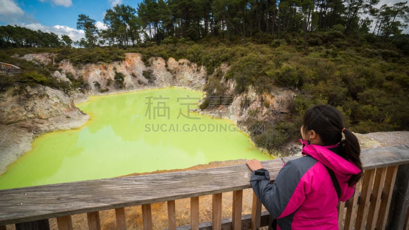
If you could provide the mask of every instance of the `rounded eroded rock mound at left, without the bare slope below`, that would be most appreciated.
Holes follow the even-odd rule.
[[[75,107],[73,99],[48,86],[16,86],[0,94],[0,121],[4,125],[44,132],[78,127],[73,121],[82,120],[88,116]]]

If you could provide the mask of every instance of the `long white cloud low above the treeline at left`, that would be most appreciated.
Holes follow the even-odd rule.
[[[68,35],[73,41],[78,41],[84,37],[85,32],[83,30],[77,30],[67,26],[56,25],[54,27],[43,26],[39,23],[22,24],[22,27],[26,27],[32,30],[41,30],[47,33],[55,33],[60,38],[62,34]]]

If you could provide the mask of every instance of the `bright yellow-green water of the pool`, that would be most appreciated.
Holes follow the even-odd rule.
[[[188,168],[217,160],[270,159],[230,121],[202,116],[198,91],[164,88],[78,105],[91,117],[75,130],[44,134],[0,176],[0,189]]]

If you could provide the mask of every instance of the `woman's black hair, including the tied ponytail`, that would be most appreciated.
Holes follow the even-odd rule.
[[[361,171],[352,175],[348,185],[353,187],[362,177],[362,163],[359,158],[360,147],[356,136],[344,129],[344,119],[338,109],[329,105],[317,105],[305,112],[303,120],[303,132],[314,130],[320,136],[323,145],[334,145],[339,143],[347,159],[351,160]],[[345,140],[342,141],[344,132]]]

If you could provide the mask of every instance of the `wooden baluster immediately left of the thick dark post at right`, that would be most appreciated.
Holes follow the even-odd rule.
[[[385,186],[383,187],[382,200],[379,207],[379,217],[376,222],[376,229],[385,229],[387,224],[389,206],[391,204],[392,192],[395,185],[396,173],[398,172],[398,166],[390,166],[387,169],[387,176],[385,179]]]

